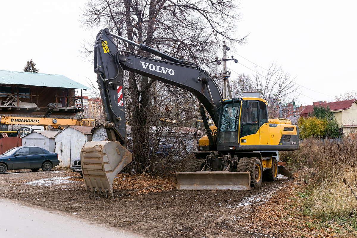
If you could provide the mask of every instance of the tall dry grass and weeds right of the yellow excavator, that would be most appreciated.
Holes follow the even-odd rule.
[[[348,223],[357,236],[357,179],[353,167],[357,161],[357,142],[317,140],[310,138],[300,143],[300,150],[279,154],[290,169],[307,168],[305,200],[307,216],[340,225]]]

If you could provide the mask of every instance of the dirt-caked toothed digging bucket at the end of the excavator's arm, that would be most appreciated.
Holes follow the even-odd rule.
[[[112,193],[115,176],[131,159],[131,153],[117,141],[85,143],[81,150],[81,167],[86,188],[105,195]]]

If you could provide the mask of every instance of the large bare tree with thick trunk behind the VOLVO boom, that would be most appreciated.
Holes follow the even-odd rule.
[[[236,21],[239,20],[235,2],[97,0],[88,2],[81,21],[83,26],[105,26],[129,40],[213,70],[220,40],[238,43],[245,41],[245,37],[232,37]],[[119,49],[135,51],[132,45],[119,41],[117,44]],[[85,51],[87,55],[92,53],[92,50]],[[137,54],[151,57],[148,52]],[[150,117],[157,104],[153,101],[154,80],[131,72],[126,76],[125,81],[128,83],[125,86],[125,100],[132,133],[134,164],[136,169],[144,171],[151,164],[146,152],[150,149],[151,141]]]

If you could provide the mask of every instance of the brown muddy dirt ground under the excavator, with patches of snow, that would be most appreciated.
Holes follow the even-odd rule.
[[[288,227],[258,226],[256,219],[262,216],[262,206],[272,202],[272,196],[291,190],[294,182],[296,179],[280,178],[251,191],[171,189],[130,194],[132,191],[115,190],[112,199],[87,192],[78,173],[54,168],[49,172],[0,174],[0,196],[75,213],[146,237],[288,237]],[[281,199],[287,199],[284,196]]]

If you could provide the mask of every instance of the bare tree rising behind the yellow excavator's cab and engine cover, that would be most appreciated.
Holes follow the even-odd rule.
[[[276,114],[276,104],[281,102],[293,102],[300,95],[301,86],[291,79],[291,75],[285,72],[281,66],[273,62],[268,70],[260,71],[255,68],[255,75],[252,79],[252,86],[257,88],[262,98],[268,103],[268,115]]]

